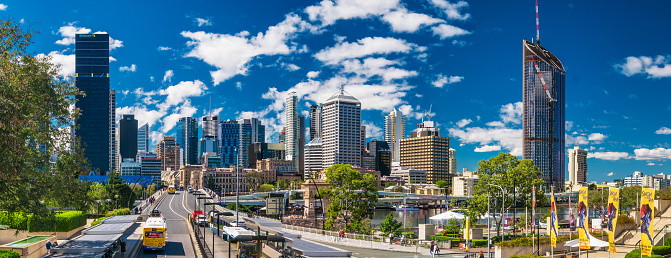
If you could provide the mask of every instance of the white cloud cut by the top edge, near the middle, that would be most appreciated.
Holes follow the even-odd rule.
[[[399,7],[399,0],[324,0],[319,5],[305,8],[310,21],[328,26],[337,20],[365,19],[388,13]]]

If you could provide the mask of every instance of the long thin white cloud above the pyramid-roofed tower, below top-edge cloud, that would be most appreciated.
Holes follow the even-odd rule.
[[[315,58],[326,64],[337,64],[345,59],[360,58],[376,54],[409,53],[417,45],[403,39],[366,37],[357,42],[338,43],[315,54]]]

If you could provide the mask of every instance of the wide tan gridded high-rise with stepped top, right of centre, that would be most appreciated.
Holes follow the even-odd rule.
[[[401,140],[401,166],[426,171],[426,180],[435,184],[440,180],[452,185],[450,174],[450,138],[441,137],[433,121],[424,121]]]

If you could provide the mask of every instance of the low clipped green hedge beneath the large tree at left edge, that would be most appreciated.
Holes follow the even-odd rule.
[[[81,211],[58,211],[55,218],[37,217],[25,213],[0,212],[0,224],[12,229],[29,232],[67,232],[86,225],[86,215]]]

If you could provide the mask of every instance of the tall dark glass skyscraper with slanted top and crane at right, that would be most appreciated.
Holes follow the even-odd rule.
[[[523,158],[531,159],[549,186],[564,189],[565,77],[561,61],[539,44],[524,40]]]

